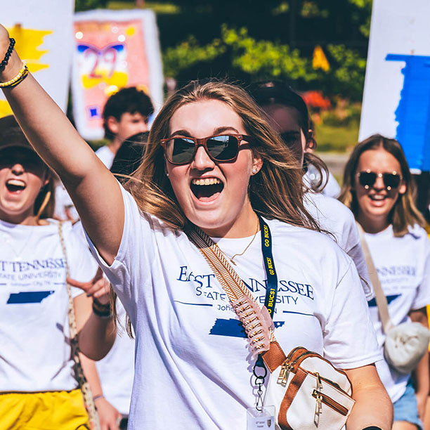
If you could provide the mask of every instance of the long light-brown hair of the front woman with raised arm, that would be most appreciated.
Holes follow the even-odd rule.
[[[320,230],[304,208],[301,166],[292,153],[245,90],[215,80],[190,82],[167,100],[155,118],[143,162],[133,174],[133,180],[126,183],[141,211],[157,216],[173,229],[185,227],[187,219],[165,173],[160,140],[169,136],[170,118],[179,107],[201,100],[226,103],[241,117],[247,134],[254,138],[252,150],[263,160],[263,167],[249,180],[249,200],[253,209],[268,219]]]

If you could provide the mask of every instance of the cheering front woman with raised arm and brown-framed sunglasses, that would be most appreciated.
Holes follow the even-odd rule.
[[[0,52],[7,46],[0,27]],[[1,81],[20,67],[14,51]],[[315,231],[297,162],[245,91],[192,82],[171,96],[128,190],[31,75],[4,93],[72,196],[93,254],[133,324],[129,429],[245,428],[256,401],[255,360],[184,228],[195,224],[213,237],[261,303],[266,273],[256,213],[273,235],[282,348],[304,344],[346,370],[356,399],[348,429],[389,429],[391,403],[373,365],[380,354],[356,268]],[[90,346],[83,351],[93,357]]]

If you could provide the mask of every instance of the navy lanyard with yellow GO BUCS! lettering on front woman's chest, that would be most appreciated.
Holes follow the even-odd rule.
[[[276,296],[278,294],[278,275],[276,275],[275,261],[272,254],[272,235],[267,223],[259,216],[261,229],[261,251],[263,252],[264,268],[266,268],[267,285],[264,306],[271,314],[275,314]]]

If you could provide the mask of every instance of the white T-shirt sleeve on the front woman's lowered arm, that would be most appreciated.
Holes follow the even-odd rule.
[[[349,259],[348,259],[349,260]],[[324,356],[335,367],[353,369],[382,360],[358,273],[349,260],[332,297],[324,336]]]

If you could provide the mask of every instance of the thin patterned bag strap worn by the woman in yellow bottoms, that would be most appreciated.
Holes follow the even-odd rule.
[[[66,276],[70,277],[70,268],[69,263],[67,262],[67,251],[65,247],[64,237],[63,237],[63,223],[58,223],[58,233],[60,235],[60,243],[61,249],[63,249],[63,254],[65,258],[65,266],[66,266]],[[70,327],[70,348],[72,349],[72,359],[74,361],[74,375],[79,384],[79,388],[82,391],[82,396],[84,397],[84,403],[86,412],[88,412],[89,420],[91,424],[91,429],[100,430],[100,421],[98,419],[98,413],[96,410],[96,405],[94,404],[93,394],[91,393],[91,389],[88,381],[84,375],[84,370],[82,370],[81,360],[79,358],[79,342],[77,337],[77,327],[76,327],[76,318],[74,316],[74,307],[73,307],[73,299],[72,299],[72,291],[68,282],[67,285],[67,294],[69,296],[69,327]]]

